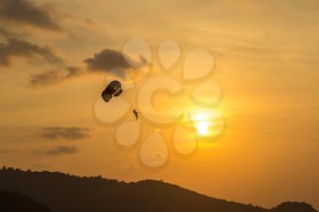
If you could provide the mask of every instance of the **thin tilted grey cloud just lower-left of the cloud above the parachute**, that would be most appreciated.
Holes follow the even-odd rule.
[[[67,66],[56,70],[46,71],[45,73],[32,75],[29,79],[29,86],[43,87],[61,83],[64,80],[80,76],[82,69],[77,66]]]

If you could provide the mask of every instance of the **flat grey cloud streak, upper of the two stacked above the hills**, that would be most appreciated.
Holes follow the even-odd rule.
[[[86,127],[45,127],[42,128],[41,136],[52,140],[57,140],[59,138],[77,140],[89,137],[89,131],[90,129]]]

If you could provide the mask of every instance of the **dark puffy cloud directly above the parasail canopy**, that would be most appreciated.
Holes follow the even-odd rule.
[[[118,69],[118,76],[124,77],[127,69],[145,66],[148,61],[143,56],[139,56],[139,60],[136,60],[117,50],[104,49],[83,62],[91,72],[108,72],[113,67],[120,67],[122,71]]]

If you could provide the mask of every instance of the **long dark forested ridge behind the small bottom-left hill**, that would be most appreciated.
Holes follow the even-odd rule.
[[[125,183],[14,168],[0,170],[0,190],[18,191],[52,212],[317,212],[305,203],[288,202],[273,209],[243,205],[161,181]]]

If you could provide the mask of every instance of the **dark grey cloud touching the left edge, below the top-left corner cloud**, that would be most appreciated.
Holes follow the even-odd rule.
[[[19,39],[9,39],[6,44],[0,43],[0,66],[10,66],[13,57],[43,59],[51,64],[62,63],[48,47],[34,45]]]

